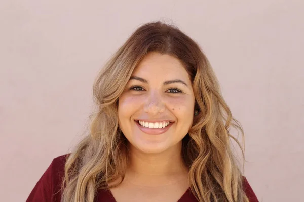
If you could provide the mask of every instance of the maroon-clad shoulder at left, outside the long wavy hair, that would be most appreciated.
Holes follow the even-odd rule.
[[[53,159],[27,198],[29,201],[60,201],[64,166],[70,154]]]

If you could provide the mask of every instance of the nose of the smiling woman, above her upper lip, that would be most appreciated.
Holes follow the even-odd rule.
[[[144,112],[154,116],[164,111],[165,105],[162,100],[162,96],[156,91],[151,92],[144,105]]]

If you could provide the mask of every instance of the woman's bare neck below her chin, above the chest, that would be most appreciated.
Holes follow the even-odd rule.
[[[133,146],[129,147],[130,164],[126,180],[134,184],[153,186],[174,183],[187,177],[181,156],[181,142],[160,154],[142,153]]]

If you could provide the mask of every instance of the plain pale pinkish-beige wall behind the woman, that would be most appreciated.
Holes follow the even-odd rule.
[[[1,200],[25,201],[83,134],[106,59],[137,26],[163,20],[210,59],[245,129],[258,199],[304,201],[303,9],[302,0],[2,0]]]

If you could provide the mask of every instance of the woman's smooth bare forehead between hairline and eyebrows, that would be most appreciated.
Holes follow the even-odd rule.
[[[175,57],[168,54],[150,52],[143,58],[133,71],[133,76],[153,78],[161,77],[187,77],[189,75],[183,64]]]

